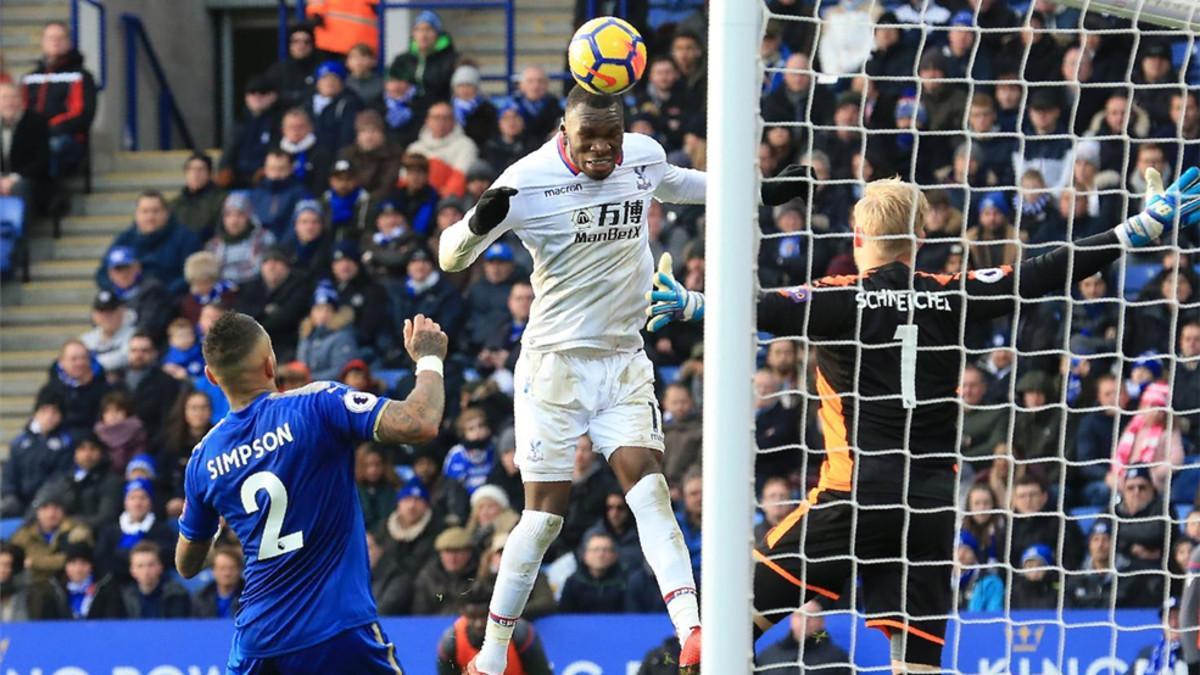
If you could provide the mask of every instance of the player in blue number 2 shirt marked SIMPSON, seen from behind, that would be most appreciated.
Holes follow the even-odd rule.
[[[416,386],[404,401],[313,382],[275,387],[271,339],[229,312],[204,339],[204,369],[229,413],[192,450],[184,473],[175,566],[204,566],[220,518],[246,552],[246,585],[226,673],[401,673],[376,622],[354,449],[424,443],[442,423],[446,336],[404,322]]]

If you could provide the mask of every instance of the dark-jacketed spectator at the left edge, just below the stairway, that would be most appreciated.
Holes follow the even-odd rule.
[[[0,513],[24,518],[47,482],[71,471],[71,435],[62,429],[62,401],[43,390],[25,430],[12,440],[0,483]]]

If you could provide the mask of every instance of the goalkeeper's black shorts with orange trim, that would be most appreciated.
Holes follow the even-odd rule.
[[[907,522],[906,522],[907,520]],[[950,613],[954,512],[859,508],[848,492],[822,490],[767,533],[755,550],[755,609],[778,622],[810,599],[845,603],[863,580],[866,625],[907,633],[905,663],[941,665]]]

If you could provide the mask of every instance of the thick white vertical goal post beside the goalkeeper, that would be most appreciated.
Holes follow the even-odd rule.
[[[703,671],[751,670],[755,279],[761,0],[713,0],[708,28]],[[757,73],[748,77],[748,73]],[[718,357],[719,356],[719,357]]]

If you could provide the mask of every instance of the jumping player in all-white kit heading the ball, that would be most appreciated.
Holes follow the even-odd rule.
[[[683,645],[682,670],[695,673],[696,583],[662,477],[662,419],[641,328],[654,271],[650,199],[702,203],[704,174],[667,163],[653,138],[625,133],[620,100],[576,86],[558,136],[493,185],[443,233],[439,250],[442,268],[455,271],[512,232],[533,255],[534,301],[514,372],[526,508],[504,548],[482,651],[468,673],[504,673],[512,627],[563,527],[575,444],[584,434],[625,491]],[[763,197],[780,204],[802,189],[800,181],[770,184]]]

